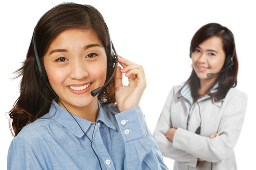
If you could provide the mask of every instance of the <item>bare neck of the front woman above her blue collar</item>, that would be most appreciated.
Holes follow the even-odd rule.
[[[91,103],[89,103],[88,105],[84,106],[84,107],[76,107],[74,105],[71,105],[67,102],[61,101],[65,107],[68,109],[68,111],[70,113],[73,113],[74,115],[82,118],[82,119],[86,119],[88,121],[91,122],[95,122],[98,116],[98,100],[94,100]],[[61,102],[58,102],[58,104],[65,108]]]

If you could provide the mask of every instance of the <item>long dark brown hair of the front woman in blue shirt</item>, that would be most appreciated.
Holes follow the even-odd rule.
[[[96,8],[76,3],[59,4],[40,18],[35,30],[39,57],[43,57],[52,40],[68,28],[93,30],[105,48],[107,62],[110,61],[108,47],[111,42],[109,42],[110,38],[103,17]],[[108,72],[109,70],[107,75],[109,75]],[[55,98],[45,82],[35,72],[35,53],[32,40],[26,59],[16,73],[17,77],[21,76],[22,78],[20,97],[9,112],[14,136],[17,136],[25,125],[48,113],[51,102]],[[112,79],[107,88],[98,95],[98,100],[103,104],[115,103],[114,88],[115,81]]]

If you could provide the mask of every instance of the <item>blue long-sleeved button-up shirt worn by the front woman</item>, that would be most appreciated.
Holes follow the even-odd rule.
[[[119,113],[105,104],[96,122],[73,115],[91,139],[103,170],[167,170],[139,106]],[[12,140],[8,170],[100,170],[89,139],[69,113],[52,102],[49,113]]]

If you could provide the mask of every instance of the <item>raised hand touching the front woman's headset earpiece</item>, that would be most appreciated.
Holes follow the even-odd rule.
[[[142,66],[118,56],[123,69],[117,68],[115,76],[116,101],[120,112],[138,106],[146,88],[146,78]],[[128,77],[128,86],[122,84],[122,73]]]

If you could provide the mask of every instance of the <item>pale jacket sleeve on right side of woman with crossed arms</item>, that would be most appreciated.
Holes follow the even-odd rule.
[[[178,128],[174,135],[173,146],[209,162],[225,160],[233,152],[240,135],[247,96],[242,92],[236,93],[226,105],[215,138],[210,139]]]

